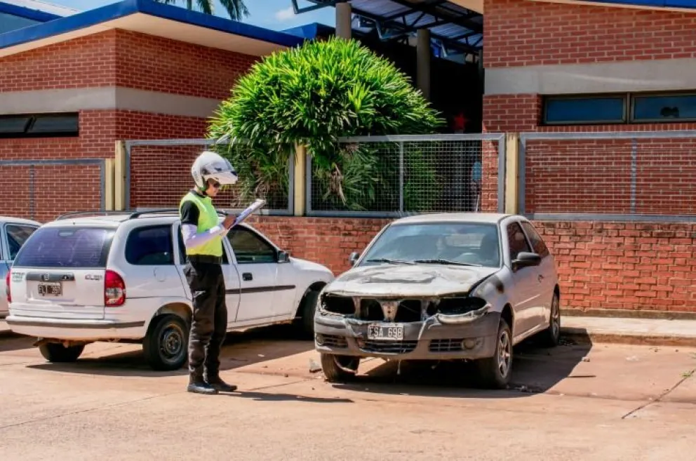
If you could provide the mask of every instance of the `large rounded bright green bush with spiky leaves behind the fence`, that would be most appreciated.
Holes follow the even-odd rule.
[[[356,41],[334,38],[307,42],[257,62],[222,102],[208,134],[250,143],[250,149],[231,156],[243,172],[240,182],[248,193],[259,187],[284,188],[287,193],[287,185],[271,175],[284,174],[290,150],[305,145],[321,188],[316,192],[325,205],[364,210],[384,208],[384,200],[394,193],[398,206],[398,163],[394,174],[394,168],[384,168],[389,163],[384,149],[366,143],[347,150],[338,146],[338,139],[434,133],[441,123],[391,62]],[[434,178],[431,159],[408,154],[407,166],[411,157],[418,162],[414,174],[423,176],[418,181]],[[277,184],[269,184],[274,181]]]

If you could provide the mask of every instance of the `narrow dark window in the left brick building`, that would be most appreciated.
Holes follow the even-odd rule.
[[[79,114],[0,116],[0,138],[55,138],[79,135]]]

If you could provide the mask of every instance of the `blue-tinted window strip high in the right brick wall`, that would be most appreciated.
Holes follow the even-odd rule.
[[[544,98],[542,124],[696,121],[696,93],[620,93]]]

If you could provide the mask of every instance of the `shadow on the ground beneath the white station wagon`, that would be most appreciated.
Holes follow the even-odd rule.
[[[297,328],[290,325],[275,325],[247,330],[243,333],[229,333],[220,356],[220,370],[234,370],[234,368],[241,366],[281,359],[314,349],[314,342],[298,338],[302,337],[297,333]],[[136,347],[137,349],[94,358],[83,356],[76,363],[41,363],[31,365],[29,368],[64,373],[141,376],[145,378],[188,374],[186,366],[175,371],[152,370],[145,361],[139,345],[126,345],[126,347],[129,349]],[[85,349],[85,352],[88,352],[88,349]]]

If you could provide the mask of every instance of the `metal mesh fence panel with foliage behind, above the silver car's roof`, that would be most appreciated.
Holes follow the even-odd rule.
[[[504,134],[343,138],[330,159],[307,161],[307,214],[394,217],[478,211],[483,152],[497,155],[498,207],[504,206]]]

